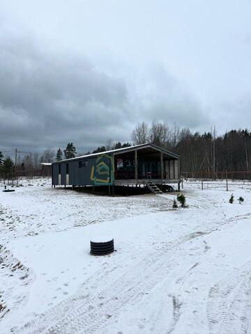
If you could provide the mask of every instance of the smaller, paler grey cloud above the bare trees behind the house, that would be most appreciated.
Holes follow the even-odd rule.
[[[192,93],[183,87],[164,67],[154,65],[144,72],[137,84],[140,90],[134,102],[144,119],[178,122],[181,127],[195,129],[208,124],[208,116]]]

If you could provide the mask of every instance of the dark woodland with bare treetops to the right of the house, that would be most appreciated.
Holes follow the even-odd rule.
[[[181,170],[198,171],[250,170],[251,132],[248,129],[234,129],[217,136],[210,132],[192,132],[176,124],[166,125],[153,121],[142,122],[131,135],[132,143],[153,143],[181,156]]]

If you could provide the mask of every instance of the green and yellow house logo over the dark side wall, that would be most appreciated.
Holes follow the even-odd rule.
[[[91,167],[91,181],[97,186],[112,185],[114,182],[114,157],[102,154]]]

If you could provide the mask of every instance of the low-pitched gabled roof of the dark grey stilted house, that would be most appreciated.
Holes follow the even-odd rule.
[[[119,154],[119,153],[125,153],[125,152],[130,152],[130,151],[135,151],[135,150],[142,150],[144,148],[153,148],[153,150],[157,150],[159,152],[162,152],[162,153],[168,155],[169,157],[172,157],[174,159],[179,159],[179,155],[178,154],[169,152],[169,151],[165,150],[164,148],[159,148],[158,146],[153,145],[151,143],[146,143],[146,144],[128,146],[127,148],[118,148],[116,150],[109,150],[109,151],[105,151],[105,152],[86,154],[86,155],[83,155],[82,157],[75,157],[75,158],[71,158],[71,159],[63,159],[63,160],[60,160],[60,161],[54,161],[52,164],[59,164],[61,162],[75,161],[75,160],[86,159],[86,158],[91,158],[91,157],[98,157],[99,155],[102,155],[102,154]]]

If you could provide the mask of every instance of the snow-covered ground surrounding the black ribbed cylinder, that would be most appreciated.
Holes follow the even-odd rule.
[[[1,334],[251,333],[251,186],[188,182],[174,210],[22,183],[0,192]],[[116,252],[90,255],[102,235]]]

